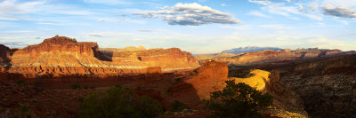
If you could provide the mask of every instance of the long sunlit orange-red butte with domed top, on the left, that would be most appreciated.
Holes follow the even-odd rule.
[[[197,59],[178,48],[139,48],[138,51],[100,51],[97,43],[56,35],[15,51],[8,71],[32,75],[122,75],[199,67]]]

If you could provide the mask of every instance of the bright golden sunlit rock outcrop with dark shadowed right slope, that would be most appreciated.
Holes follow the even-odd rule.
[[[253,76],[249,78],[229,79],[235,80],[235,83],[247,83],[256,90],[269,93],[273,97],[272,106],[274,109],[263,111],[264,114],[271,114],[277,117],[307,117],[304,111],[303,100],[295,94],[293,90],[279,82],[279,71],[267,72],[255,69],[250,72]]]

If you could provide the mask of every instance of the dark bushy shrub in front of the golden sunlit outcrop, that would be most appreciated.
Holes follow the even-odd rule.
[[[212,117],[263,117],[258,111],[271,106],[272,97],[250,87],[246,83],[226,81],[223,90],[214,91],[205,100]]]

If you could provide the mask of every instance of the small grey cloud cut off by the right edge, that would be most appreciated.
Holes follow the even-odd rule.
[[[346,7],[334,7],[333,5],[326,5],[322,7],[324,14],[343,17],[343,18],[356,18],[356,11]]]

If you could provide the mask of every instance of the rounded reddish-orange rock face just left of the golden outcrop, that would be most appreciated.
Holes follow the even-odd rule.
[[[203,108],[201,99],[209,98],[210,92],[222,90],[228,73],[225,62],[207,60],[203,66],[194,70],[192,75],[182,78],[182,82],[171,86],[173,96],[179,98],[179,101],[188,103],[190,107]]]

